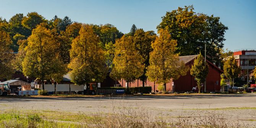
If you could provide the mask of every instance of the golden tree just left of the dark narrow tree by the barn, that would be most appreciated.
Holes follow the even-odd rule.
[[[125,79],[128,83],[135,81],[143,74],[143,57],[138,54],[133,37],[123,36],[115,43],[115,57],[113,59],[113,69],[110,77],[113,79]]]

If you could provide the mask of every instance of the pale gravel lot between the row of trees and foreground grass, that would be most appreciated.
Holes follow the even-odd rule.
[[[163,118],[193,121],[216,116],[226,122],[256,128],[256,94],[104,97],[0,97],[2,110],[55,110],[108,113],[122,109],[145,110]]]

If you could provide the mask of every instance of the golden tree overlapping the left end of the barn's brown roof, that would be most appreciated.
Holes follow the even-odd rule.
[[[173,40],[167,30],[160,29],[159,36],[151,44],[153,51],[149,54],[149,66],[146,75],[150,81],[164,84],[166,91],[166,83],[171,78],[178,79],[180,76],[186,75],[188,67],[180,61],[177,49],[177,41]]]

